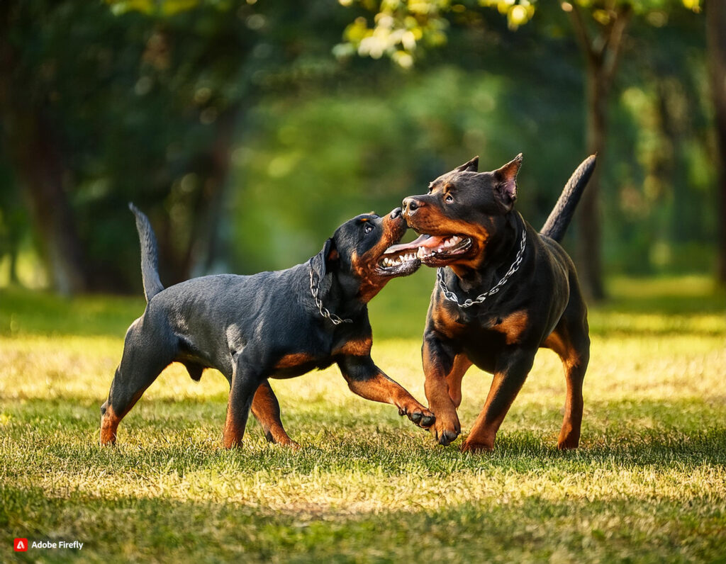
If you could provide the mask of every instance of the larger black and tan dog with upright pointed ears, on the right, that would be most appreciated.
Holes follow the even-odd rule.
[[[539,234],[514,210],[521,155],[496,171],[478,173],[478,158],[439,176],[428,194],[407,197],[404,216],[421,237],[391,253],[416,254],[439,267],[423,339],[423,369],[431,428],[440,444],[460,433],[461,380],[477,367],[494,375],[484,409],[462,444],[491,450],[540,347],[563,361],[565,417],[558,447],[579,444],[582,380],[590,358],[587,308],[571,259],[558,245],[595,157],[568,181]]]

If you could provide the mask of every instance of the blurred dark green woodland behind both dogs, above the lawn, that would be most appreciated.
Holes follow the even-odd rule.
[[[592,150],[566,245],[595,233],[605,274],[715,274],[726,89],[711,7],[683,4],[6,0],[0,283],[138,291],[130,200],[166,284],[284,268],[473,155],[524,153],[540,226]]]

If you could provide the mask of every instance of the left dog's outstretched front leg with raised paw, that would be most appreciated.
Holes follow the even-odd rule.
[[[340,372],[353,393],[364,399],[393,404],[400,415],[407,415],[416,425],[428,428],[436,417],[421,405],[403,386],[386,376],[370,356],[343,356],[338,361]]]

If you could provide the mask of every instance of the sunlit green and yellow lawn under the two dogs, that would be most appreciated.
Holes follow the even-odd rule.
[[[425,276],[428,274],[429,276]],[[423,399],[431,272],[372,303],[373,356]],[[172,366],[97,446],[131,298],[0,292],[0,560],[726,562],[726,300],[707,279],[611,283],[593,308],[582,448],[555,448],[539,353],[491,454],[442,448],[337,369],[273,382],[302,449],[221,449],[227,383]],[[471,370],[464,433],[489,375]],[[14,537],[83,549],[12,551]]]

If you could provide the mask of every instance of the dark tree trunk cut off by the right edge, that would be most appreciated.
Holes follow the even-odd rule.
[[[716,114],[719,197],[719,280],[726,283],[726,2],[706,4],[711,98]]]

